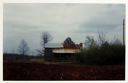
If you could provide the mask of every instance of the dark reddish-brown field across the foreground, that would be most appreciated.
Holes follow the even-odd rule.
[[[125,80],[125,66],[4,62],[3,80]]]

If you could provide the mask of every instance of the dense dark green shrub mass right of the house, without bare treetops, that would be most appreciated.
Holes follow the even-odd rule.
[[[85,65],[124,64],[125,46],[104,43],[100,47],[84,49],[77,54],[76,61]]]

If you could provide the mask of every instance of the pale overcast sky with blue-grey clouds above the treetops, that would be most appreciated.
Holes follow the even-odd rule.
[[[97,38],[103,32],[107,40],[122,41],[123,4],[4,4],[4,52],[16,52],[22,39],[31,51],[39,49],[41,33],[49,32],[51,42],[62,43],[71,37],[75,43],[86,36]]]

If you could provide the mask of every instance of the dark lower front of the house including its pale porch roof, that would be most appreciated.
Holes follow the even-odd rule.
[[[80,49],[46,48],[45,58],[54,61],[74,61],[74,54],[79,51]]]

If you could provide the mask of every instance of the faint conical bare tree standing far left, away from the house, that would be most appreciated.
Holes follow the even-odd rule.
[[[20,45],[19,45],[19,48],[18,48],[18,52],[21,54],[21,55],[27,55],[28,52],[29,52],[29,47],[28,47],[28,44],[25,40],[22,40]]]

